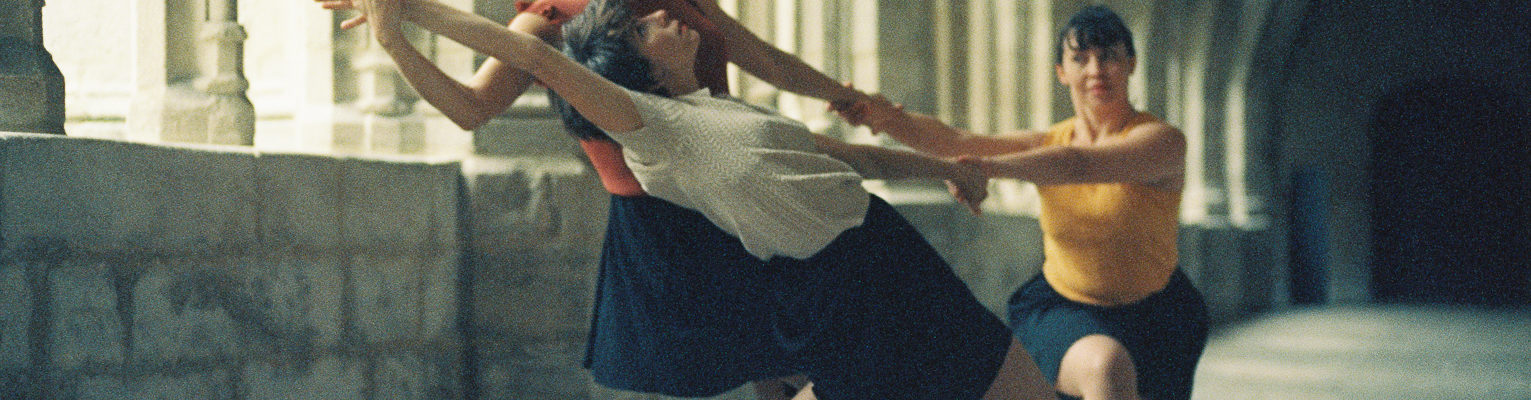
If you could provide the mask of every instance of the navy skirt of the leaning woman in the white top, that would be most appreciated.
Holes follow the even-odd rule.
[[[977,400],[1010,330],[903,216],[867,221],[807,261],[773,259],[775,331],[821,400]]]

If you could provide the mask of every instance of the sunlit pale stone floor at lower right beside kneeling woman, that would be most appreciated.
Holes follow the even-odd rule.
[[[1531,398],[1531,308],[1258,316],[1213,330],[1193,398]]]

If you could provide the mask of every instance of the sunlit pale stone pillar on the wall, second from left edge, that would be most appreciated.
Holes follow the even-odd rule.
[[[127,115],[127,138],[254,143],[254,106],[245,97],[245,29],[236,23],[236,6],[237,0],[135,3],[138,89]]]

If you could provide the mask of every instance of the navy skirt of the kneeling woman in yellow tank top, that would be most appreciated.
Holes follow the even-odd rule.
[[[1073,342],[1104,334],[1127,346],[1138,369],[1138,394],[1153,400],[1190,398],[1206,346],[1206,302],[1180,270],[1159,293],[1122,307],[1069,300],[1036,274],[1010,296],[1009,314],[1010,328],[1047,382],[1058,382],[1058,365]]]

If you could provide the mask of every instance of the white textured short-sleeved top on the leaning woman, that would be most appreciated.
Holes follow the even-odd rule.
[[[706,90],[629,93],[643,127],[608,135],[643,190],[701,211],[750,254],[807,259],[867,216],[862,176],[802,123]]]

